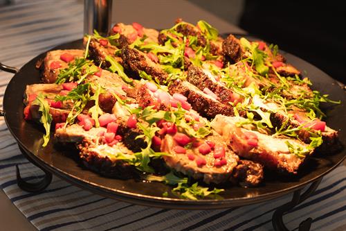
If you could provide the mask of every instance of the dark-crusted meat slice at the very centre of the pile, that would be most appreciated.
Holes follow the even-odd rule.
[[[180,93],[188,98],[188,103],[190,103],[192,108],[199,112],[202,117],[211,119],[217,114],[234,115],[231,105],[220,103],[188,81],[175,80],[169,85],[168,89],[170,94]]]

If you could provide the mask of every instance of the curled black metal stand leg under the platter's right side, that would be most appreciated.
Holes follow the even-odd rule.
[[[307,191],[304,191],[303,194],[301,194],[302,189],[294,191],[292,200],[289,203],[281,205],[280,207],[278,207],[275,210],[275,212],[273,214],[273,219],[272,219],[273,228],[275,231],[289,231],[286,228],[286,226],[284,225],[284,221],[282,220],[282,216],[284,216],[284,214],[286,214],[286,212],[289,212],[291,209],[293,209],[293,207],[302,203],[309,196],[311,196],[311,194],[313,194],[313,192],[316,191],[318,185],[320,185],[321,180],[322,180],[322,178],[313,182],[310,185],[310,187],[307,189]],[[311,218],[308,218],[308,219],[302,221],[302,223],[300,223],[300,225],[299,225],[298,230],[299,231],[309,231],[311,228],[311,222],[312,222]]]

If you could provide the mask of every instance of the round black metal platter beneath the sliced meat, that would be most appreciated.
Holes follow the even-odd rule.
[[[54,49],[82,49],[82,40],[62,44]],[[170,191],[171,188],[160,182],[105,178],[82,168],[71,157],[73,156],[71,151],[54,146],[53,137],[48,146],[42,148],[42,132],[44,130],[41,126],[35,123],[28,123],[23,119],[23,93],[26,85],[40,83],[39,71],[35,69],[35,63],[39,58],[43,58],[44,55],[45,53],[42,53],[30,60],[10,80],[3,97],[6,123],[29,160],[56,176],[71,182],[73,185],[88,189],[96,194],[139,205],[172,209],[235,207],[270,200],[301,189],[318,178],[325,176],[343,162],[345,158],[345,148],[331,155],[311,157],[295,178],[276,176],[276,174],[271,176],[267,173],[264,184],[260,187],[227,187],[224,193],[221,194],[224,198],[222,200],[184,200],[174,195],[163,197],[163,193]],[[289,63],[300,70],[304,70],[303,76],[311,78],[313,89],[320,90],[322,94],[329,94],[330,99],[342,101],[340,105],[332,107],[330,105],[322,105],[322,109],[327,112],[327,125],[338,130],[340,143],[346,144],[346,94],[343,89],[338,86],[335,80],[317,67],[289,53],[284,53],[284,55],[286,55]]]

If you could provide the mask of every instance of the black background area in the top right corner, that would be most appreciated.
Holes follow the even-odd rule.
[[[190,2],[346,83],[345,1]]]

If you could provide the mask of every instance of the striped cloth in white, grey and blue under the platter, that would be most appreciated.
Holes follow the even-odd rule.
[[[0,60],[21,67],[56,44],[82,37],[80,1],[21,1],[0,8]],[[12,74],[0,71],[0,107]],[[19,93],[20,94],[20,93]],[[0,185],[12,203],[39,230],[272,230],[271,216],[291,195],[266,203],[223,210],[170,210],[104,198],[53,178],[38,194],[17,187],[15,164],[26,180],[42,171],[21,155],[0,119]],[[310,216],[311,230],[346,230],[346,167],[329,173],[318,190],[284,221],[290,229]]]

